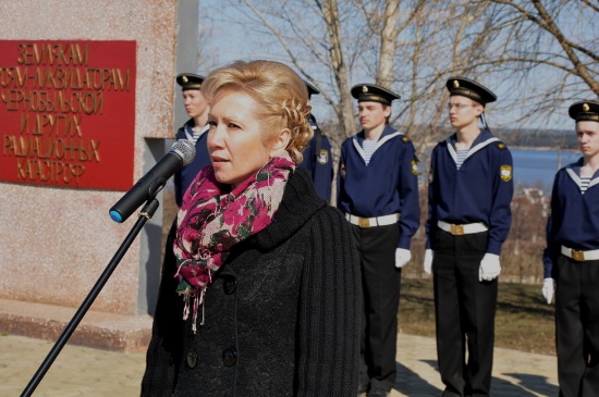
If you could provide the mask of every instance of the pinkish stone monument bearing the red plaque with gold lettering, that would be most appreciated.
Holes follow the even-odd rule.
[[[109,209],[173,137],[174,76],[197,71],[198,3],[32,0],[0,15],[0,332],[56,339],[137,219]],[[146,348],[161,209],[70,343]]]

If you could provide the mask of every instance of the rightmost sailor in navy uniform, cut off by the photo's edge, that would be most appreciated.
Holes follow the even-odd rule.
[[[599,396],[599,102],[570,107],[583,157],[553,182],[542,293],[555,293],[560,396]]]

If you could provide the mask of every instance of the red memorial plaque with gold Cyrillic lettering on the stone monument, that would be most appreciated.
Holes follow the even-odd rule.
[[[0,181],[133,185],[135,41],[0,40]]]

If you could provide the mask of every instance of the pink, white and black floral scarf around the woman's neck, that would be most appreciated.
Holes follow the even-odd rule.
[[[183,296],[183,319],[193,310],[196,332],[198,306],[204,307],[206,288],[224,263],[231,248],[267,227],[279,209],[286,181],[295,163],[284,152],[232,191],[215,178],[211,166],[203,169],[185,196],[178,214],[173,252],[179,278],[176,291]],[[204,310],[201,323],[204,324]]]

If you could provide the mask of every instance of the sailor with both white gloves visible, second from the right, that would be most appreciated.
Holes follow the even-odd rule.
[[[431,154],[424,266],[433,274],[442,395],[488,396],[499,255],[512,220],[512,156],[485,119],[496,95],[463,77],[451,77],[447,88],[455,134]]]

